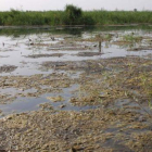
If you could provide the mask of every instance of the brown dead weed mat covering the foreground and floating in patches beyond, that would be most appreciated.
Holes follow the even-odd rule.
[[[132,34],[71,39],[30,47],[48,47],[47,51],[81,51],[76,54],[78,56],[101,55],[97,51],[102,42],[117,46],[136,43],[130,51],[151,49],[150,46],[142,47],[150,37]],[[91,49],[96,51],[90,52]],[[47,53],[28,58],[60,55]],[[151,58],[48,61],[39,65],[40,71],[52,71],[31,76],[0,76],[1,104],[20,97],[48,100],[39,104],[38,111],[0,119],[0,151],[151,152]],[[9,72],[13,67],[8,68],[1,71]]]

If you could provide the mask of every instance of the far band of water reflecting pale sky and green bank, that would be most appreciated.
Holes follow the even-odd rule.
[[[13,75],[33,75],[43,73],[39,65],[46,61],[81,61],[126,55],[147,55],[151,51],[127,51],[136,43],[113,45],[134,31],[136,36],[151,36],[151,26],[121,26],[121,27],[80,27],[80,28],[41,28],[41,29],[0,29],[0,66],[15,65]],[[111,41],[81,41],[84,38],[93,38],[97,34],[112,35]],[[118,37],[117,37],[118,35]],[[54,37],[54,40],[51,38]],[[119,39],[118,39],[119,38]],[[30,45],[29,39],[34,45]],[[97,47],[96,47],[97,46]],[[102,55],[79,56],[79,52],[101,52]],[[62,53],[62,56],[43,55]],[[41,58],[27,58],[42,54]],[[87,53],[86,53],[87,54]],[[94,53],[96,54],[96,53]],[[40,55],[39,55],[40,56]],[[2,73],[2,75],[8,75]],[[10,75],[10,74],[9,74]]]

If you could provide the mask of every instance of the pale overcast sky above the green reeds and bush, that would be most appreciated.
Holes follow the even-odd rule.
[[[63,10],[66,4],[75,4],[83,10],[152,10],[152,0],[0,0],[0,11]]]

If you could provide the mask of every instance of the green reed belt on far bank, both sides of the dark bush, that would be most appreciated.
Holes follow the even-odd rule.
[[[66,25],[64,11],[24,12],[12,10],[0,12],[0,25]],[[117,25],[152,23],[152,12],[134,11],[85,11],[73,25]],[[69,25],[67,23],[67,25]]]

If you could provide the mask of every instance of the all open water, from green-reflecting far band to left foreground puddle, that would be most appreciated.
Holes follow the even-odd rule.
[[[119,56],[145,56],[151,54],[152,50],[142,50],[142,51],[127,51],[129,46],[117,46],[113,45],[114,41],[119,40],[124,35],[130,35],[134,33],[135,36],[139,37],[149,37],[152,39],[152,28],[148,27],[111,27],[111,28],[55,28],[55,29],[30,29],[22,31],[18,29],[12,29],[8,34],[8,30],[4,29],[0,31],[0,66],[3,65],[15,65],[16,69],[10,73],[2,72],[1,76],[10,75],[35,75],[35,74],[50,74],[54,69],[42,71],[40,68],[41,63],[47,61],[54,62],[66,62],[66,61],[84,61],[84,60],[99,60],[99,59],[110,59],[110,58],[119,58]],[[107,35],[112,34],[114,37],[109,42],[102,42],[101,54],[93,56],[79,56],[80,52],[99,52],[98,43],[99,41],[81,41],[80,39],[93,38],[96,35]],[[118,35],[118,38],[117,38]],[[54,40],[52,40],[54,37]],[[66,43],[64,43],[64,41]],[[73,43],[74,45],[71,45]],[[136,46],[144,46],[145,41],[136,43]],[[36,43],[36,45],[31,45]],[[85,48],[87,46],[87,49]],[[93,47],[94,46],[94,47]],[[62,53],[63,56],[45,56],[45,58],[28,58],[28,55],[35,54],[54,54]],[[60,72],[60,71],[59,71]],[[64,72],[64,71],[63,71]],[[76,72],[74,77],[78,77],[79,72]],[[74,87],[75,88],[75,87]],[[71,90],[74,88],[63,89],[62,96],[65,101],[60,103],[52,103],[51,105],[55,110],[61,110],[59,106],[65,104],[66,106],[62,110],[88,110],[94,109],[96,106],[73,106],[68,100],[72,98]],[[31,90],[29,90],[31,91]],[[14,88],[2,89],[1,92],[20,92]],[[10,114],[13,112],[27,112],[35,111],[39,109],[39,104],[49,102],[47,96],[56,96],[55,93],[42,94],[39,98],[17,98],[14,102],[10,104],[0,105],[0,109],[3,111],[3,114]]]

